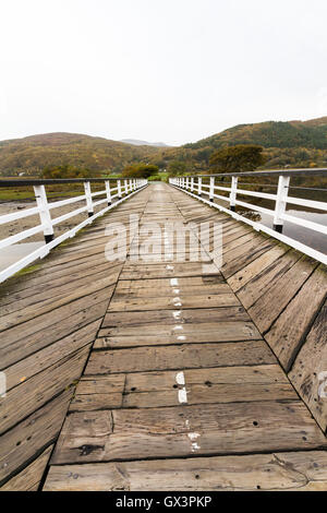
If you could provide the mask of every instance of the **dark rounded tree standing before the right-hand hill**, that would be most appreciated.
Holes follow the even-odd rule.
[[[263,147],[254,144],[222,147],[210,156],[211,172],[254,171],[266,162],[262,152]]]

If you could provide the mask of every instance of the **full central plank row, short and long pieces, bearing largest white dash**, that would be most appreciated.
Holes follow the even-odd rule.
[[[187,404],[298,398],[278,365],[186,369],[183,374]],[[179,406],[182,385],[177,380],[177,371],[86,375],[77,385],[70,409]]]

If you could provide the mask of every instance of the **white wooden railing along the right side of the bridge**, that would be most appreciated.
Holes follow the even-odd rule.
[[[317,231],[322,234],[322,237],[326,237],[327,235],[327,226],[324,226],[319,223],[314,223],[308,219],[303,219],[302,217],[296,217],[290,214],[287,214],[287,204],[300,205],[306,208],[314,208],[318,211],[327,212],[327,202],[325,201],[314,201],[314,200],[305,200],[302,198],[293,198],[289,195],[290,189],[290,179],[293,176],[318,176],[318,177],[326,177],[327,169],[288,169],[282,171],[254,171],[254,172],[235,172],[235,174],[220,174],[220,175],[201,175],[201,176],[183,176],[183,177],[174,177],[170,178],[169,182],[181,189],[182,191],[186,192],[187,194],[197,198],[198,200],[207,203],[219,211],[226,212],[230,214],[238,220],[242,220],[249,225],[252,225],[254,229],[258,231],[264,231],[276,239],[279,239],[282,242],[295,248],[303,253],[316,259],[319,262],[327,264],[327,255],[320,251],[317,251],[310,246],[306,246],[291,237],[282,235],[282,227],[283,223],[289,222],[295,225],[300,225],[303,228],[307,228],[310,230]],[[253,190],[246,189],[239,189],[238,188],[238,180],[240,177],[247,178],[247,177],[276,177],[278,178],[278,186],[277,186],[277,193],[266,193],[266,192],[258,192]],[[230,179],[230,186],[221,186],[222,179]],[[208,183],[204,183],[204,181],[208,181]],[[218,184],[219,183],[219,184]],[[255,186],[255,183],[249,183],[249,186]],[[246,183],[247,186],[247,183]],[[310,190],[310,188],[302,188]],[[227,195],[218,194],[217,191],[225,191],[228,193]],[[253,198],[262,198],[265,200],[271,200],[275,202],[275,208],[266,208],[259,205],[255,205],[252,203],[247,203],[243,200],[238,199],[239,195],[249,195]],[[205,199],[203,196],[207,196]],[[326,191],[327,196],[327,191]],[[227,206],[222,206],[218,203],[215,203],[215,199],[222,200],[227,203]],[[327,198],[326,198],[327,199]],[[272,229],[265,226],[263,223],[252,220],[246,216],[239,214],[235,212],[235,206],[240,205],[245,208],[250,208],[251,211],[267,214],[272,217]]]

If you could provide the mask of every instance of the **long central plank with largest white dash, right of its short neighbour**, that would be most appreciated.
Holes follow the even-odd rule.
[[[187,404],[298,399],[278,366],[184,370],[126,374],[123,408],[179,406],[185,386]]]

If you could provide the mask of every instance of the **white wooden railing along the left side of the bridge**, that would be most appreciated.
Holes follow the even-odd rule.
[[[111,187],[110,183],[112,181],[116,182],[116,187]],[[92,183],[93,182],[101,182],[105,186],[104,190],[92,192]],[[84,194],[77,195],[74,198],[69,198],[66,200],[53,201],[49,202],[46,193],[46,186],[53,186],[58,183],[83,183],[84,184]],[[59,180],[0,180],[1,188],[17,188],[17,187],[28,187],[32,186],[34,188],[35,199],[36,199],[36,206],[32,208],[24,208],[20,212],[14,212],[11,214],[5,214],[0,216],[0,225],[5,223],[13,223],[17,219],[22,219],[24,217],[29,217],[32,215],[38,214],[40,223],[33,228],[28,228],[24,231],[20,231],[19,234],[12,235],[7,237],[5,239],[0,240],[0,250],[8,248],[21,240],[28,239],[29,237],[43,232],[45,238],[45,244],[38,248],[36,251],[29,253],[28,255],[24,256],[23,259],[19,260],[17,262],[13,263],[5,270],[0,272],[0,283],[4,279],[9,278],[13,274],[17,273],[26,265],[29,265],[37,259],[43,259],[46,256],[49,251],[55,248],[56,246],[63,242],[65,239],[74,237],[76,232],[84,228],[84,226],[90,224],[97,217],[104,215],[110,208],[113,208],[122,201],[125,201],[128,198],[135,194],[137,191],[143,189],[147,186],[147,180],[145,179],[100,179],[100,178],[90,178],[90,179],[59,179]],[[101,200],[94,201],[95,198],[105,196]],[[51,213],[61,206],[74,204],[76,202],[81,202],[85,200],[85,205],[69,212],[68,214],[63,214],[58,217],[52,217]],[[95,207],[104,205],[99,212],[95,213]],[[74,217],[78,214],[87,212],[87,218],[80,223],[78,225],[74,226],[72,229],[69,229],[64,234],[60,235],[59,237],[55,238],[53,227],[59,225],[60,223],[69,219],[70,217]]]

